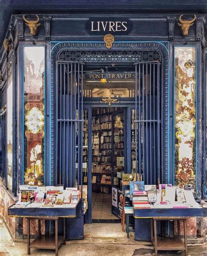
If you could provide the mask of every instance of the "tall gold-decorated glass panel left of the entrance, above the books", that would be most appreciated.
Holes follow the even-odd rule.
[[[45,183],[45,47],[24,47],[24,184]]]

